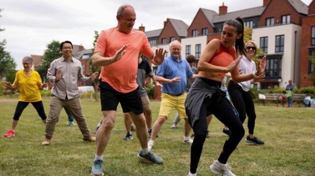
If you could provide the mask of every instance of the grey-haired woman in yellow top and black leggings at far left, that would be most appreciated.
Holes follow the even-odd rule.
[[[15,113],[12,121],[12,128],[4,134],[5,137],[15,136],[15,127],[18,125],[19,118],[23,110],[32,103],[43,123],[46,123],[46,114],[41,101],[39,89],[47,87],[52,83],[42,83],[38,72],[32,70],[33,59],[26,56],[22,59],[23,70],[20,70],[15,75],[14,83],[4,81],[2,84],[7,88],[16,89],[19,87],[20,96],[18,104],[16,105]]]

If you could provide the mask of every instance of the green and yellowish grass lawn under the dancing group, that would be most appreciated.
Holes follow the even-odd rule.
[[[44,98],[46,114],[49,98]],[[100,102],[81,100],[92,134],[101,118]],[[16,128],[16,136],[3,137],[10,129],[17,98],[0,97],[0,176],[89,176],[95,156],[95,143],[83,142],[77,126],[67,126],[64,112],[56,126],[50,146],[41,146],[44,125],[30,104]],[[151,103],[153,122],[158,117],[159,102]],[[111,139],[104,153],[106,176],[187,176],[190,145],[182,143],[184,122],[170,129],[175,110],[162,127],[153,152],[164,159],[163,165],[138,162],[140,150],[135,133],[124,141],[126,130],[119,106]],[[228,162],[237,176],[314,176],[315,175],[315,109],[256,106],[255,135],[265,141],[255,146],[242,139]],[[247,121],[244,123],[246,131]],[[213,118],[210,137],[206,139],[197,169],[198,176],[215,176],[209,166],[221,152],[227,136],[223,125]],[[192,132],[191,132],[192,133]]]

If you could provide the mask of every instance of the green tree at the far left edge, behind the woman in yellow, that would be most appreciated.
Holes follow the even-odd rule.
[[[2,10],[3,9],[0,8],[0,12]],[[4,28],[0,28],[0,32],[3,30]],[[6,81],[13,82],[15,72],[16,72],[15,71],[16,63],[14,61],[14,58],[10,55],[10,52],[7,52],[5,50],[5,47],[4,47],[5,45],[6,45],[6,40],[3,39],[0,42],[0,74],[1,74],[1,77],[2,76],[6,77]],[[12,75],[13,75],[13,80],[12,80]]]

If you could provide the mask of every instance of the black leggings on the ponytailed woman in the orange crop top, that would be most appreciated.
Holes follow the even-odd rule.
[[[225,164],[228,157],[235,150],[238,143],[242,140],[245,130],[238,118],[237,111],[233,108],[230,102],[222,96],[213,94],[211,99],[205,98],[200,108],[199,119],[194,123],[192,129],[195,134],[193,143],[191,145],[190,155],[190,172],[196,173],[198,162],[200,159],[202,147],[206,139],[207,133],[207,120],[209,114],[213,114],[216,118],[226,125],[231,130],[231,135],[224,143],[223,150],[221,151],[219,162]]]

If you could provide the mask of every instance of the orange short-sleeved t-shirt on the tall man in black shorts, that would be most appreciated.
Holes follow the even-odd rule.
[[[100,78],[118,92],[128,93],[138,87],[136,77],[140,50],[147,56],[153,53],[144,32],[132,29],[126,34],[115,27],[103,30],[97,39],[94,52],[104,53],[104,57],[112,57],[124,45],[127,45],[126,53],[119,61],[103,66]]]

